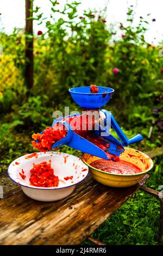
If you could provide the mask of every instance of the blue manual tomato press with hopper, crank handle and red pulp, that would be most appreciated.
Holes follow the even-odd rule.
[[[51,126],[53,134],[49,133],[48,136],[46,130],[40,134],[37,133],[37,136],[33,137],[36,141],[34,147],[37,148],[36,144],[42,143],[46,148],[48,142],[43,138],[43,134],[46,133],[48,139],[51,140],[50,149],[67,145],[83,153],[116,161],[116,157],[124,151],[123,146],[127,147],[131,143],[142,141],[143,137],[140,134],[128,139],[111,112],[101,109],[111,99],[114,89],[95,87],[92,92],[89,86],[69,89],[72,99],[84,112],[54,119]],[[59,128],[58,139],[54,134],[57,126]],[[66,134],[62,133],[61,127],[62,130],[66,130]],[[121,142],[110,134],[110,127],[117,133]]]

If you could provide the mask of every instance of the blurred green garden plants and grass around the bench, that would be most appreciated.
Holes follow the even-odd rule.
[[[64,106],[69,106],[70,111],[80,111],[68,88],[82,85],[115,89],[105,108],[114,114],[128,137],[139,132],[143,135],[144,140],[133,148],[148,151],[162,145],[163,58],[159,57],[162,45],[161,42],[158,46],[148,44],[144,38],[153,22],[151,17],[140,17],[135,27],[134,9],[129,7],[126,25],[120,23],[121,38],[118,38],[114,27],[106,27],[105,10],[85,11],[78,17],[79,3],[69,2],[59,10],[58,2],[51,1],[52,19],[46,21],[46,33],[41,31],[43,17],[39,9],[34,10],[40,31],[34,36],[32,89],[24,81],[24,64],[28,62],[24,54],[25,38],[29,35],[22,29],[14,29],[12,34],[0,33],[3,45],[0,57],[1,174],[6,173],[8,164],[16,157],[33,151],[32,133],[51,125],[55,110],[64,111]],[[55,19],[56,13],[60,14],[59,19]],[[148,138],[153,109],[159,114],[152,137]],[[61,150],[80,155],[67,147]],[[163,164],[161,157],[154,161],[149,185],[157,189],[163,184]],[[140,192],[94,235],[108,244],[156,244],[158,212],[159,203]]]

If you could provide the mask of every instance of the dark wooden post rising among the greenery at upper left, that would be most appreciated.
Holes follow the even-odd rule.
[[[28,89],[33,87],[33,0],[26,0],[26,66],[25,80]],[[29,36],[28,36],[29,35]]]

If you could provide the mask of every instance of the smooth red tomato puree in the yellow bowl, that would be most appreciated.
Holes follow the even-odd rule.
[[[141,173],[141,169],[126,161],[107,161],[104,159],[96,160],[90,164],[92,167],[107,173],[114,174],[136,174]]]

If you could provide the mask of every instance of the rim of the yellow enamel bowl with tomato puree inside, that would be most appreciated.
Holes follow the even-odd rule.
[[[132,149],[132,148],[130,148]],[[137,149],[135,149],[136,151],[139,151]],[[139,151],[141,154],[145,155],[146,157],[150,158],[149,156],[147,156],[145,153]],[[90,154],[88,154],[90,155]],[[145,171],[145,172],[141,172],[141,173],[136,173],[136,174],[116,174],[116,173],[108,173],[108,172],[103,172],[103,170],[98,170],[96,169],[95,167],[92,167],[89,163],[85,162],[83,160],[83,157],[82,157],[82,161],[87,165],[89,166],[90,168],[92,168],[93,170],[96,170],[97,172],[100,172],[100,173],[105,173],[105,174],[109,174],[109,175],[115,175],[115,176],[139,176],[139,175],[142,175],[142,174],[145,174],[147,172],[149,172],[149,170],[151,170],[153,168],[153,161],[152,159],[150,158],[150,162],[151,162],[151,166],[149,166],[149,168]]]

